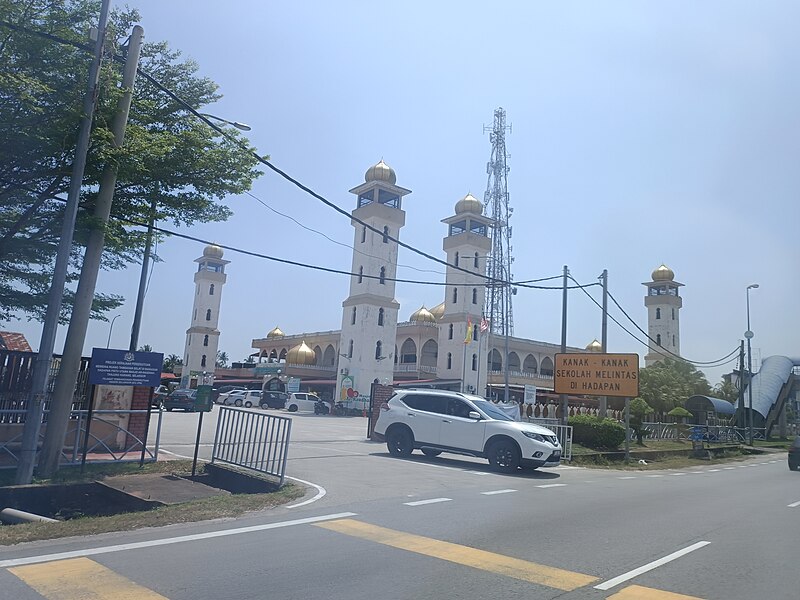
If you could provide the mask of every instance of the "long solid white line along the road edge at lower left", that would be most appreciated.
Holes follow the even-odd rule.
[[[222,529],[219,531],[207,531],[206,533],[196,533],[194,535],[182,535],[179,537],[162,538],[159,540],[149,540],[147,542],[134,542],[131,544],[117,544],[114,546],[101,546],[99,548],[86,548],[85,550],[73,550],[71,552],[57,552],[54,554],[40,554],[38,556],[28,556],[25,558],[12,558],[0,560],[0,569],[8,567],[18,567],[20,565],[34,565],[37,563],[50,562],[53,560],[64,560],[67,558],[79,558],[83,556],[96,556],[98,554],[109,554],[111,552],[124,552],[126,550],[139,550],[141,548],[153,548],[155,546],[168,546],[170,544],[180,544],[182,542],[195,542],[230,535],[240,535],[242,533],[252,533],[255,531],[266,531],[268,529],[279,529],[291,527],[293,525],[305,525],[308,523],[319,523],[320,521],[332,521],[334,519],[345,519],[355,517],[356,513],[344,512],[319,517],[307,517],[305,519],[294,519],[292,521],[280,521],[278,523],[265,523],[264,525],[253,525],[251,527],[239,527],[236,529]]]

